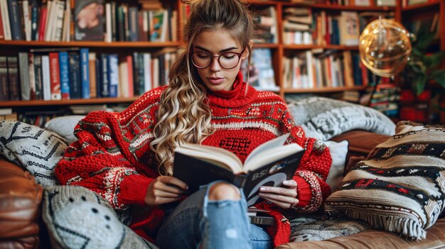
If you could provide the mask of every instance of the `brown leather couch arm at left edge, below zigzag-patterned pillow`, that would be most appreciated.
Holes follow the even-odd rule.
[[[3,158],[0,172],[0,248],[37,248],[43,189]]]

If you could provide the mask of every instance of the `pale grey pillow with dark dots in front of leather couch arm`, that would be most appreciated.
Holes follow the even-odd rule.
[[[157,248],[124,226],[100,195],[80,186],[46,188],[43,221],[53,248]]]

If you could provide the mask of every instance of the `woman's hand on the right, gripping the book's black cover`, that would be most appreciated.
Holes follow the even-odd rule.
[[[259,188],[260,197],[281,206],[283,209],[289,209],[299,204],[296,195],[296,182],[293,179],[284,181],[282,187],[262,186]]]

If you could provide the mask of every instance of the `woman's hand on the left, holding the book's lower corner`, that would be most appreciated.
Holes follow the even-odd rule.
[[[187,184],[176,177],[159,176],[147,187],[144,201],[149,206],[178,201],[187,189]]]

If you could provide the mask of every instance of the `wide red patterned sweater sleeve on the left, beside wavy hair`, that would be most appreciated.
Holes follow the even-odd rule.
[[[91,189],[114,209],[144,204],[158,175],[150,143],[159,95],[155,89],[122,113],[95,111],[83,118],[75,127],[78,140],[55,167],[60,183]]]

